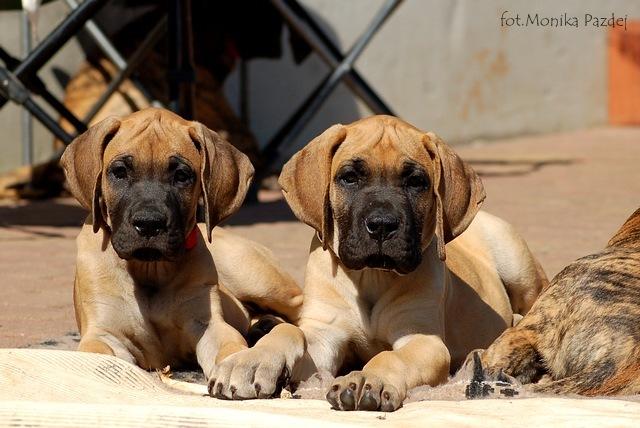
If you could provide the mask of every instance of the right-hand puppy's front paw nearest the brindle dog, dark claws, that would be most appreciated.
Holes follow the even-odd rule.
[[[402,407],[404,394],[398,388],[365,371],[354,371],[336,378],[327,393],[335,410],[382,410]]]

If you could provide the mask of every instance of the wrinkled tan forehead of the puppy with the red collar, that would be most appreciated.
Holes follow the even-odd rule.
[[[164,115],[130,116],[122,121],[118,132],[104,151],[105,165],[114,158],[132,156],[142,164],[165,164],[172,156],[200,165],[200,155],[191,136],[190,123]]]

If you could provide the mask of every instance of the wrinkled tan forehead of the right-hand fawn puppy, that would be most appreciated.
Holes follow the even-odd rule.
[[[401,121],[356,122],[347,127],[347,137],[335,153],[331,172],[335,174],[355,159],[377,171],[396,171],[408,162],[430,171],[432,161],[423,139],[424,133]]]

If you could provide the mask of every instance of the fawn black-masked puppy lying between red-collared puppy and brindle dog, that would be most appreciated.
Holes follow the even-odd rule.
[[[410,388],[445,382],[547,284],[513,228],[479,212],[485,193],[471,167],[400,119],[332,126],[284,166],[280,184],[317,232],[300,331],[273,330],[223,361],[215,396],[265,396],[280,373],[263,365],[277,357],[293,380],[346,373],[327,393],[335,409],[393,411]]]

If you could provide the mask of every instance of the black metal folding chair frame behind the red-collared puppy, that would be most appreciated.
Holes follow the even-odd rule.
[[[73,140],[73,136],[60,127],[33,99],[33,94],[41,96],[60,116],[67,119],[77,133],[87,129],[86,124],[93,119],[98,111],[108,101],[109,97],[120,87],[122,82],[140,64],[145,54],[155,45],[162,34],[169,31],[169,85],[170,106],[180,114],[190,117],[192,114],[193,81],[194,72],[192,66],[192,43],[190,28],[190,0],[169,0],[170,13],[168,17],[161,19],[150,31],[144,41],[135,50],[131,57],[125,60],[109,40],[100,31],[91,18],[104,6],[108,0],[84,0],[78,3],[76,0],[65,0],[72,9],[71,13],[13,70],[0,66],[0,108],[7,102],[24,107],[40,123],[42,123],[55,137],[65,145]],[[53,96],[37,78],[37,72],[64,46],[69,39],[74,37],[82,28],[86,27],[88,33],[103,50],[105,55],[119,69],[116,76],[107,86],[106,91],[92,106],[84,118],[77,118],[69,109]],[[185,54],[186,52],[186,54]],[[35,84],[34,84],[35,82]],[[148,97],[147,92],[137,82],[134,82]],[[37,92],[33,87],[37,86]],[[31,90],[30,90],[31,89]],[[149,97],[148,97],[149,98]],[[159,104],[154,102],[154,104]],[[25,123],[27,123],[25,121]],[[26,151],[26,149],[25,149]],[[56,154],[59,156],[59,153]]]

